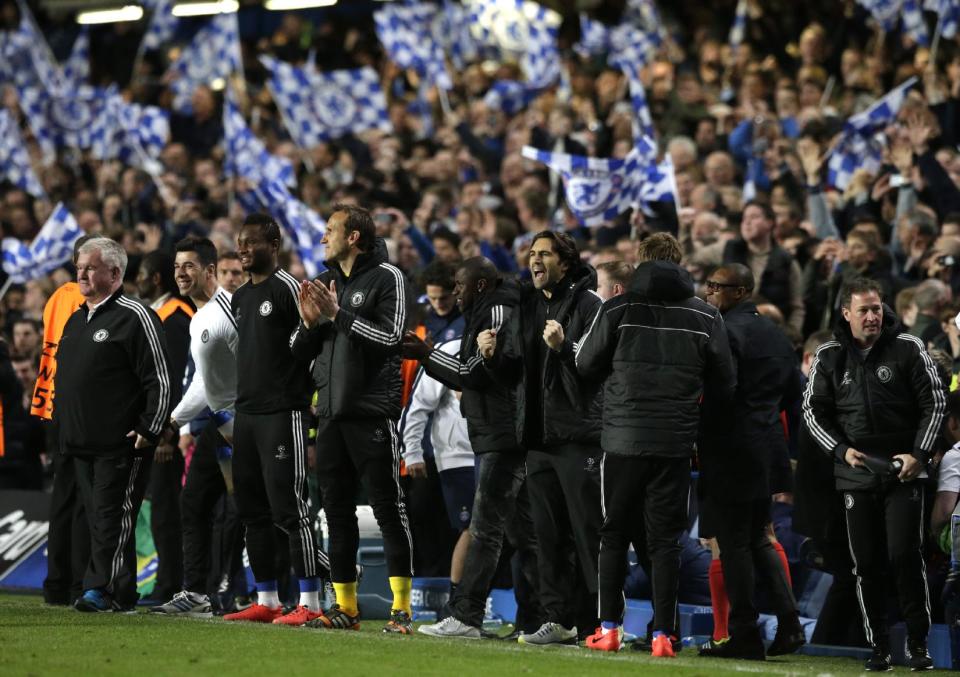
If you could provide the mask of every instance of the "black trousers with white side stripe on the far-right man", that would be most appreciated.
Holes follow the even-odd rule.
[[[930,597],[922,551],[923,486],[917,480],[887,482],[873,491],[844,491],[843,500],[867,641],[889,647],[889,578],[897,584],[907,636],[926,641]]]

